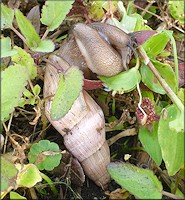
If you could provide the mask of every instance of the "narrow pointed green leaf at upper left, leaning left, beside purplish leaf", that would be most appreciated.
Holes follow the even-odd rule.
[[[38,47],[41,40],[31,22],[17,9],[15,10],[15,16],[19,29],[28,42],[28,46]]]

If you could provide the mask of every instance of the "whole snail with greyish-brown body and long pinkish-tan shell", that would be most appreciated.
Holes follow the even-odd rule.
[[[85,78],[91,78],[94,74],[113,76],[128,64],[131,58],[129,45],[132,45],[131,37],[114,26],[78,23],[72,27],[61,48],[49,56],[49,60],[57,63],[62,71],[77,66]],[[43,91],[45,98],[55,95],[59,79],[57,69],[47,63]],[[50,117],[52,100],[47,98],[45,102],[48,120],[64,137],[66,148],[80,161],[85,174],[106,189],[110,180],[106,169],[110,162],[110,150],[105,138],[102,109],[82,90],[68,113],[53,121]]]

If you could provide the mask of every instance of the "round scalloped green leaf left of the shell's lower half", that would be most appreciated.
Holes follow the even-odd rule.
[[[60,164],[62,154],[59,146],[49,140],[41,140],[31,146],[28,160],[40,170],[53,170]]]

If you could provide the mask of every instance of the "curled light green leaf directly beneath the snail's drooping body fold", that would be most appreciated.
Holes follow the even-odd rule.
[[[135,89],[137,83],[140,82],[141,76],[138,69],[133,67],[128,71],[121,72],[115,76],[98,76],[98,78],[103,81],[109,89],[121,93],[130,92]]]

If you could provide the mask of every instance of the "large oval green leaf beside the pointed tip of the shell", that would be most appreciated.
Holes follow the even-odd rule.
[[[162,185],[152,171],[126,163],[108,164],[111,177],[140,199],[161,199]]]

